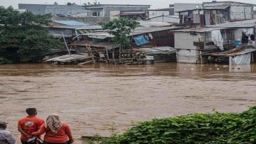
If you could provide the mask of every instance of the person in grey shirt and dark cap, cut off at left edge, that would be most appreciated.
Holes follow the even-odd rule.
[[[7,123],[0,121],[0,143],[1,144],[15,144],[15,138],[6,130]]]

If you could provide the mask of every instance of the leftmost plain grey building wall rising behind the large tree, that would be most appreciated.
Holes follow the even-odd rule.
[[[45,7],[46,5],[19,3],[19,9],[26,9],[35,15],[45,15]]]

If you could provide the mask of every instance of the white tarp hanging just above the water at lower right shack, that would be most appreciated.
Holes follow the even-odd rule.
[[[251,53],[237,55],[236,57],[230,57],[230,65],[250,64],[250,57]]]

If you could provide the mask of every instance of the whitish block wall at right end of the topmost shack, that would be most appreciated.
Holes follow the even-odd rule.
[[[230,20],[253,19],[253,7],[251,6],[231,6]]]

